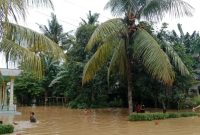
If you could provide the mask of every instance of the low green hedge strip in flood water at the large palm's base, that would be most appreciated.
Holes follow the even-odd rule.
[[[171,113],[133,113],[129,115],[130,121],[152,121],[152,120],[163,120],[170,118],[180,117],[192,117],[197,116],[195,112],[171,112]]]

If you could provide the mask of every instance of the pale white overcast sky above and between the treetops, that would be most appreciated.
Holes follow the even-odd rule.
[[[181,23],[184,32],[192,33],[194,30],[200,31],[200,0],[185,0],[194,8],[193,17],[172,18],[166,16],[162,22],[169,24],[169,29],[177,29],[177,23]],[[63,25],[64,32],[75,31],[81,22],[81,18],[86,19],[89,10],[92,13],[100,13],[99,22],[104,22],[113,18],[109,10],[104,10],[108,0],[52,0],[54,10],[46,8],[30,8],[25,22],[20,20],[18,23],[30,29],[40,32],[38,24],[47,25],[48,19],[53,12],[58,21]],[[159,27],[162,22],[157,23]],[[12,68],[12,62],[9,64]],[[0,54],[0,68],[5,67],[5,60]]]

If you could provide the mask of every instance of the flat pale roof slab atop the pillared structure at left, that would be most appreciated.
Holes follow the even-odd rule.
[[[21,72],[22,70],[19,70],[19,69],[0,68],[0,74],[2,76],[19,76]]]

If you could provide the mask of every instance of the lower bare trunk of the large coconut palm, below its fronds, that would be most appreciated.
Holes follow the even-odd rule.
[[[131,63],[129,60],[127,61],[127,83],[128,83],[128,109],[129,109],[129,114],[131,114],[133,112],[133,99],[132,99],[133,85],[132,85]]]

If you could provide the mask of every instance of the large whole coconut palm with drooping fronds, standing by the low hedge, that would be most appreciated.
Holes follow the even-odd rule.
[[[169,59],[170,56],[138,22],[141,19],[160,21],[167,13],[174,17],[192,16],[193,8],[182,0],[110,0],[105,8],[111,9],[115,16],[124,17],[110,19],[94,31],[86,50],[90,51],[97,45],[98,49],[84,67],[82,83],[90,81],[96,71],[110,60],[108,78],[114,71],[119,71],[118,73],[126,77],[129,113],[131,113],[133,111],[132,77],[134,77],[132,70],[137,61],[143,63],[146,72],[153,78],[167,86],[171,86],[175,78],[170,60],[182,75],[189,74],[172,48],[167,51],[172,56],[172,59]]]

